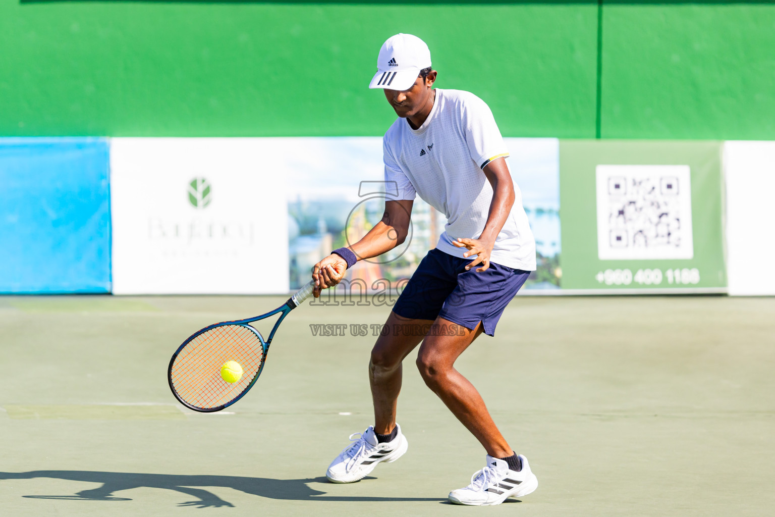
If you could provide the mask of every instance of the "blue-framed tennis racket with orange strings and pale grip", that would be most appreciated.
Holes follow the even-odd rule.
[[[167,380],[175,398],[187,408],[201,412],[220,411],[243,398],[263,370],[277,327],[288,312],[312,295],[314,288],[315,281],[309,281],[274,311],[255,318],[215,323],[186,339],[172,355],[167,368]],[[274,323],[269,339],[264,340],[250,323],[277,313],[280,319]],[[226,382],[221,377],[221,367],[227,361],[236,361],[243,368],[239,381]]]

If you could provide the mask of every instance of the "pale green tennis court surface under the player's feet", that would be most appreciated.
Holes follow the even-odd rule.
[[[775,299],[518,298],[458,367],[539,477],[521,502],[446,504],[484,451],[405,363],[405,457],[322,477],[372,420],[384,307],[288,316],[256,387],[184,411],[167,362],[190,333],[281,297],[0,298],[2,515],[771,515]],[[266,326],[260,327],[262,330]],[[411,357],[411,356],[410,356]],[[198,508],[217,507],[201,511]]]

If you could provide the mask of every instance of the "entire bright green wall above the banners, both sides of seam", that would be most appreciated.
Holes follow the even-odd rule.
[[[505,136],[775,140],[775,5],[617,2],[0,0],[0,136],[381,135],[398,32]]]

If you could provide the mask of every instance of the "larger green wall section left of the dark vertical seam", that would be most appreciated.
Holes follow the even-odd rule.
[[[594,137],[597,5],[0,0],[0,135],[381,135],[381,44],[421,36],[440,88],[505,135]]]

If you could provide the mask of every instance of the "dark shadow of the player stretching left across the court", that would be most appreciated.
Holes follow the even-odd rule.
[[[33,479],[51,477],[67,481],[102,483],[101,487],[82,490],[74,495],[25,495],[36,499],[75,499],[84,501],[131,501],[131,498],[115,497],[114,493],[133,488],[167,488],[198,498],[181,503],[195,508],[234,506],[203,488],[226,487],[264,498],[297,501],[439,501],[439,498],[377,498],[325,496],[326,492],[314,490],[308,483],[325,483],[325,477],[309,479],[271,479],[269,477],[198,476],[175,474],[137,474],[134,472],[96,472],[92,470],[31,470],[29,472],[0,472],[0,480]],[[325,497],[319,497],[325,496]]]

